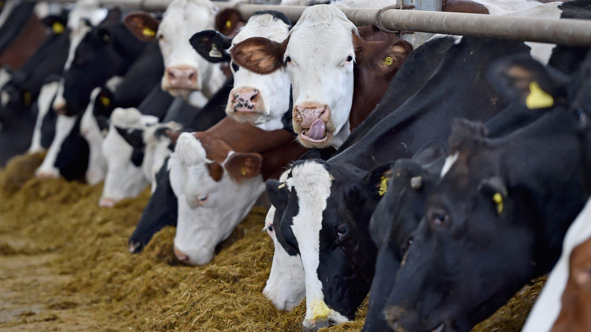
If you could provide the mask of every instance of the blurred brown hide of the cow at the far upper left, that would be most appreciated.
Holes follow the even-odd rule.
[[[14,70],[20,69],[45,40],[46,28],[37,15],[32,14],[21,32],[0,55],[0,67],[9,66]]]

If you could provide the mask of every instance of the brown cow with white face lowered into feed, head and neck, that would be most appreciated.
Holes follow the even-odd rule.
[[[305,150],[284,130],[264,131],[225,118],[204,132],[178,137],[168,161],[178,200],[174,253],[181,262],[203,265],[264,192]]]

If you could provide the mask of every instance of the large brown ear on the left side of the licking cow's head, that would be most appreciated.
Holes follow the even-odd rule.
[[[251,37],[232,47],[232,60],[241,67],[259,74],[270,74],[284,66],[283,55],[290,40],[283,43],[263,37]]]

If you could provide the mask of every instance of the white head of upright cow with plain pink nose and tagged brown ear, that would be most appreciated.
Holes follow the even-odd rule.
[[[196,31],[213,29],[215,17],[216,9],[209,0],[175,0],[161,21],[147,12],[135,12],[125,17],[125,24],[140,40],[158,40],[165,67],[162,89],[175,97],[187,97],[207,87],[214,71],[187,40]]]

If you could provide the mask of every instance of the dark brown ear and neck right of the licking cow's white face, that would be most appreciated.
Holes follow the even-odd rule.
[[[353,35],[356,60],[349,115],[351,130],[361,125],[378,105],[390,81],[413,51],[413,45],[407,41],[372,26],[359,27],[359,37]]]

